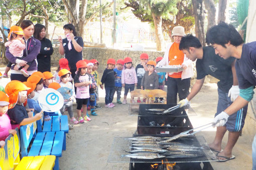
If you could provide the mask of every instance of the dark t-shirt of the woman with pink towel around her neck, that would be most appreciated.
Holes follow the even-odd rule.
[[[76,42],[83,47],[83,39],[80,36],[75,36],[75,40]],[[68,49],[68,39],[62,39],[62,44],[64,47],[64,51],[65,51],[65,58],[67,58],[68,60],[68,64],[70,66],[70,69],[75,69],[76,70],[76,62],[81,60],[83,58],[82,52],[77,52],[74,48],[74,45],[71,41],[71,49]]]

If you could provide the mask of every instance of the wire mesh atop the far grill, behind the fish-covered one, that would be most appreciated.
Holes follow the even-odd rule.
[[[148,113],[146,110],[149,108],[170,108],[175,104],[139,104],[139,103],[129,103],[129,115],[132,116],[163,116],[161,114]],[[187,115],[196,116],[196,112],[193,110],[191,106],[186,106],[185,108],[178,108],[175,111],[165,114],[164,116],[187,116],[182,114],[182,111],[185,109]]]

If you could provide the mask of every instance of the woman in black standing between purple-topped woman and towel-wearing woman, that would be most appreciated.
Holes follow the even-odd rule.
[[[53,53],[52,42],[45,37],[46,28],[44,25],[35,24],[34,37],[41,42],[40,53],[37,55],[37,70],[41,72],[51,72],[51,55]]]

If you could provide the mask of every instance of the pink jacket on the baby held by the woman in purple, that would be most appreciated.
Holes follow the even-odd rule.
[[[5,46],[9,46],[9,51],[16,57],[23,56],[23,50],[26,48],[26,45],[23,44],[18,39],[9,40],[5,43]]]

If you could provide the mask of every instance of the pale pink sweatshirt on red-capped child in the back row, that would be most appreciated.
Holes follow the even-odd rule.
[[[135,84],[138,82],[137,73],[134,67],[122,69],[122,84]]]

